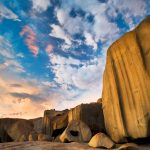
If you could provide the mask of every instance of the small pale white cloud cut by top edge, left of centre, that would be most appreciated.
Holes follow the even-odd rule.
[[[33,9],[37,12],[43,12],[51,6],[51,0],[32,0]]]

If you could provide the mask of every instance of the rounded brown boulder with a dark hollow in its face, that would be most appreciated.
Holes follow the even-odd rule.
[[[88,142],[92,137],[90,128],[82,121],[71,121],[60,136],[61,142]]]

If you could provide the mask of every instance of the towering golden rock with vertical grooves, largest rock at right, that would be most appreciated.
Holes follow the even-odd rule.
[[[115,142],[150,136],[150,16],[107,52],[102,105]]]

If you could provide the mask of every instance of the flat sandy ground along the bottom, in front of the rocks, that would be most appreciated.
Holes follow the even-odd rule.
[[[79,143],[10,142],[10,143],[1,143],[0,150],[104,150],[104,149],[91,148],[87,144],[79,144]],[[117,150],[117,148],[114,150]],[[140,150],[150,150],[150,145],[140,146]]]

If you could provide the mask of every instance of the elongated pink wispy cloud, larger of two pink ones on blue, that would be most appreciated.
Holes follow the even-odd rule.
[[[25,42],[34,56],[39,53],[39,47],[36,45],[36,33],[28,25],[24,26],[20,32],[20,36],[25,36]]]

